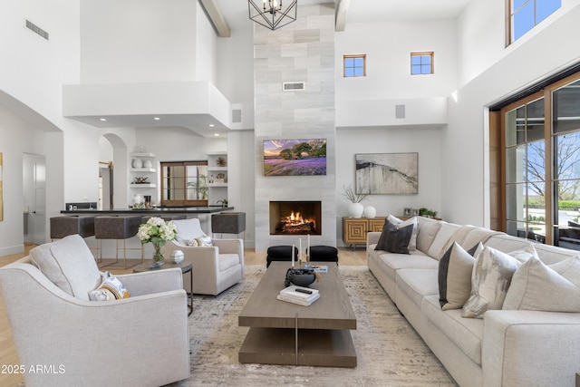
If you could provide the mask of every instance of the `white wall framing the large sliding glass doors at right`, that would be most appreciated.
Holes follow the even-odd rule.
[[[478,3],[488,5],[486,0]],[[513,44],[497,63],[459,89],[458,102],[449,99],[449,125],[441,138],[441,169],[445,171],[441,175],[441,212],[449,221],[489,225],[487,107],[580,62],[575,38],[580,34],[580,6],[577,1],[566,4],[570,5],[568,12],[560,15],[557,23],[546,24]],[[462,24],[469,25],[469,20]]]

